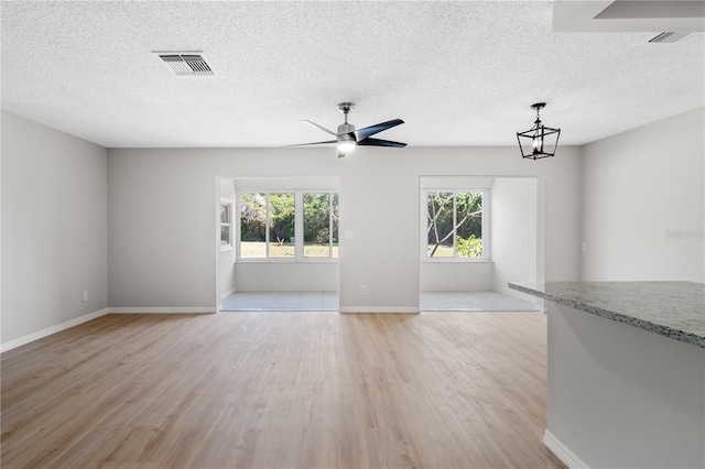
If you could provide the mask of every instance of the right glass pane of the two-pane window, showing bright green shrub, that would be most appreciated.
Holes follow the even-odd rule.
[[[482,257],[482,193],[457,193],[456,244],[459,258]]]

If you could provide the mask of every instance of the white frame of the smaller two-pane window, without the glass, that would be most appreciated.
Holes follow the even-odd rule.
[[[482,193],[482,255],[480,258],[430,258],[429,257],[429,194],[435,193]],[[424,187],[420,190],[420,234],[421,234],[421,261],[422,262],[491,262],[491,188],[487,186],[449,186],[449,187]],[[453,217],[455,219],[455,197],[453,198]],[[454,223],[455,225],[455,223]],[[453,252],[456,252],[456,237],[453,237]]]

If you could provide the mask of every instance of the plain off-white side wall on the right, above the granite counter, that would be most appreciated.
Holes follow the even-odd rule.
[[[583,280],[705,280],[704,112],[584,146]]]

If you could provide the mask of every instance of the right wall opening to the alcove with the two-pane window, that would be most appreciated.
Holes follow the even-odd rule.
[[[420,310],[543,310],[543,177],[420,177]]]

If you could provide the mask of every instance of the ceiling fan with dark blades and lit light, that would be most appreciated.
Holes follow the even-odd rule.
[[[352,102],[340,102],[338,105],[338,109],[340,109],[340,112],[345,114],[345,122],[338,126],[337,132],[328,130],[325,127],[318,126],[317,123],[312,122],[310,120],[305,120],[305,119],[302,120],[302,122],[317,127],[324,132],[334,135],[335,140],[327,140],[325,142],[300,143],[296,145],[286,145],[286,146],[306,146],[306,145],[323,145],[326,143],[336,143],[338,146],[338,157],[345,156],[347,153],[355,150],[357,145],[393,146],[398,149],[403,149],[404,146],[406,146],[405,143],[371,138],[376,133],[382,132],[387,129],[391,129],[392,127],[399,126],[400,123],[404,123],[403,120],[393,119],[387,122],[376,123],[375,126],[366,127],[360,130],[355,130],[355,126],[352,126],[351,123],[348,123],[348,112],[350,112],[354,107],[355,105]]]

